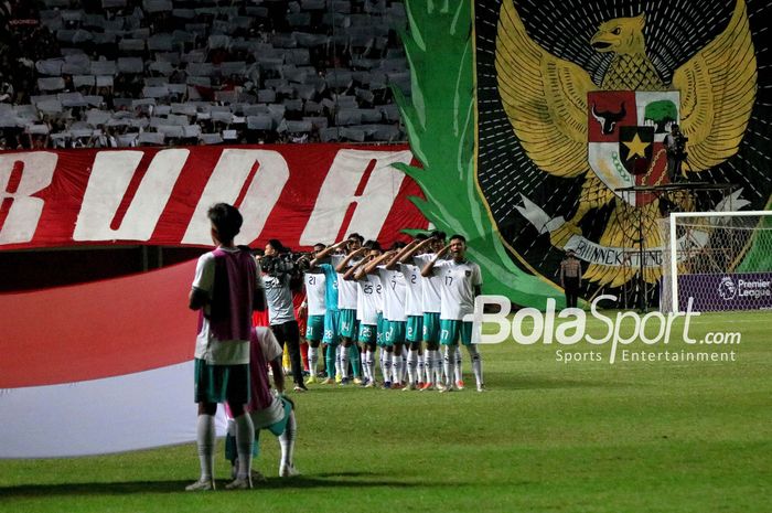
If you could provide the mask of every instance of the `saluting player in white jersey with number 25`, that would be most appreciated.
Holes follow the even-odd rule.
[[[346,272],[349,279],[354,279],[360,287],[357,317],[360,318],[358,342],[365,352],[366,386],[375,385],[375,350],[380,346],[380,371],[384,388],[392,387],[392,351],[386,345],[384,336],[385,321],[383,316],[383,282],[376,267],[383,264],[392,254],[382,254],[380,245],[375,241],[365,244],[366,257]]]

